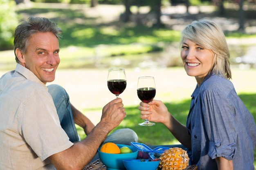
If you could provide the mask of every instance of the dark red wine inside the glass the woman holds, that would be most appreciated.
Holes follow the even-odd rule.
[[[137,94],[142,102],[148,103],[151,102],[155,97],[155,88],[138,88]]]

